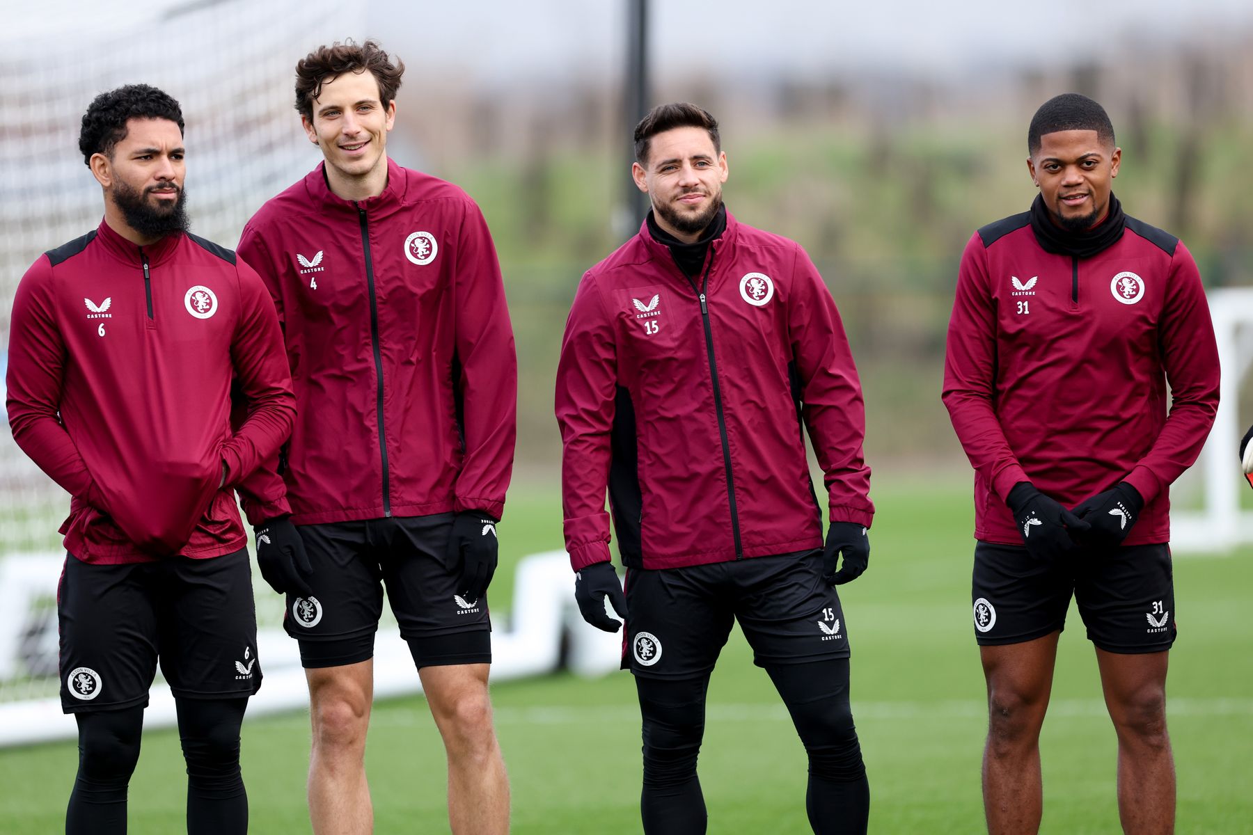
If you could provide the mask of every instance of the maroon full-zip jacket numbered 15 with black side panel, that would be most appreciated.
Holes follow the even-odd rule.
[[[606,486],[630,567],[821,547],[802,418],[831,520],[871,523],[861,383],[808,255],[728,213],[702,275],[704,298],[645,222],[575,293],[556,378],[575,571],[610,558]]]

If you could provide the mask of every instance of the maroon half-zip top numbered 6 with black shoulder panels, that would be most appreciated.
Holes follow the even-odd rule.
[[[14,439],[73,497],[61,533],[83,562],[238,551],[234,488],[261,518],[288,512],[249,476],[291,433],[291,376],[266,288],[229,249],[140,248],[100,223],[41,255],[18,285],[8,388]]]

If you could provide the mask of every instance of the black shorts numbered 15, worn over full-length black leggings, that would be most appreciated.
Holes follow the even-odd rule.
[[[708,674],[739,627],[757,666],[847,658],[840,596],[822,581],[822,551],[688,568],[629,568],[623,670],[637,676]]]

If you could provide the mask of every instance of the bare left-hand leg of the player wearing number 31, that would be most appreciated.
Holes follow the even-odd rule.
[[[991,835],[1030,835],[1040,830],[1044,809],[1040,727],[1049,709],[1060,635],[979,647],[987,680],[984,814]]]

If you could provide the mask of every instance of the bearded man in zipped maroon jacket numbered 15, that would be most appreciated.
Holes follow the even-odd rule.
[[[556,418],[575,598],[593,626],[621,626],[606,597],[626,620],[644,831],[705,831],[705,691],[738,620],[808,754],[813,831],[865,832],[870,787],[834,590],[866,570],[873,516],[848,341],[804,250],[723,207],[727,155],[712,115],[660,105],[634,139],[632,174],[653,210],[579,284]],[[826,547],[806,429],[826,474]]]

